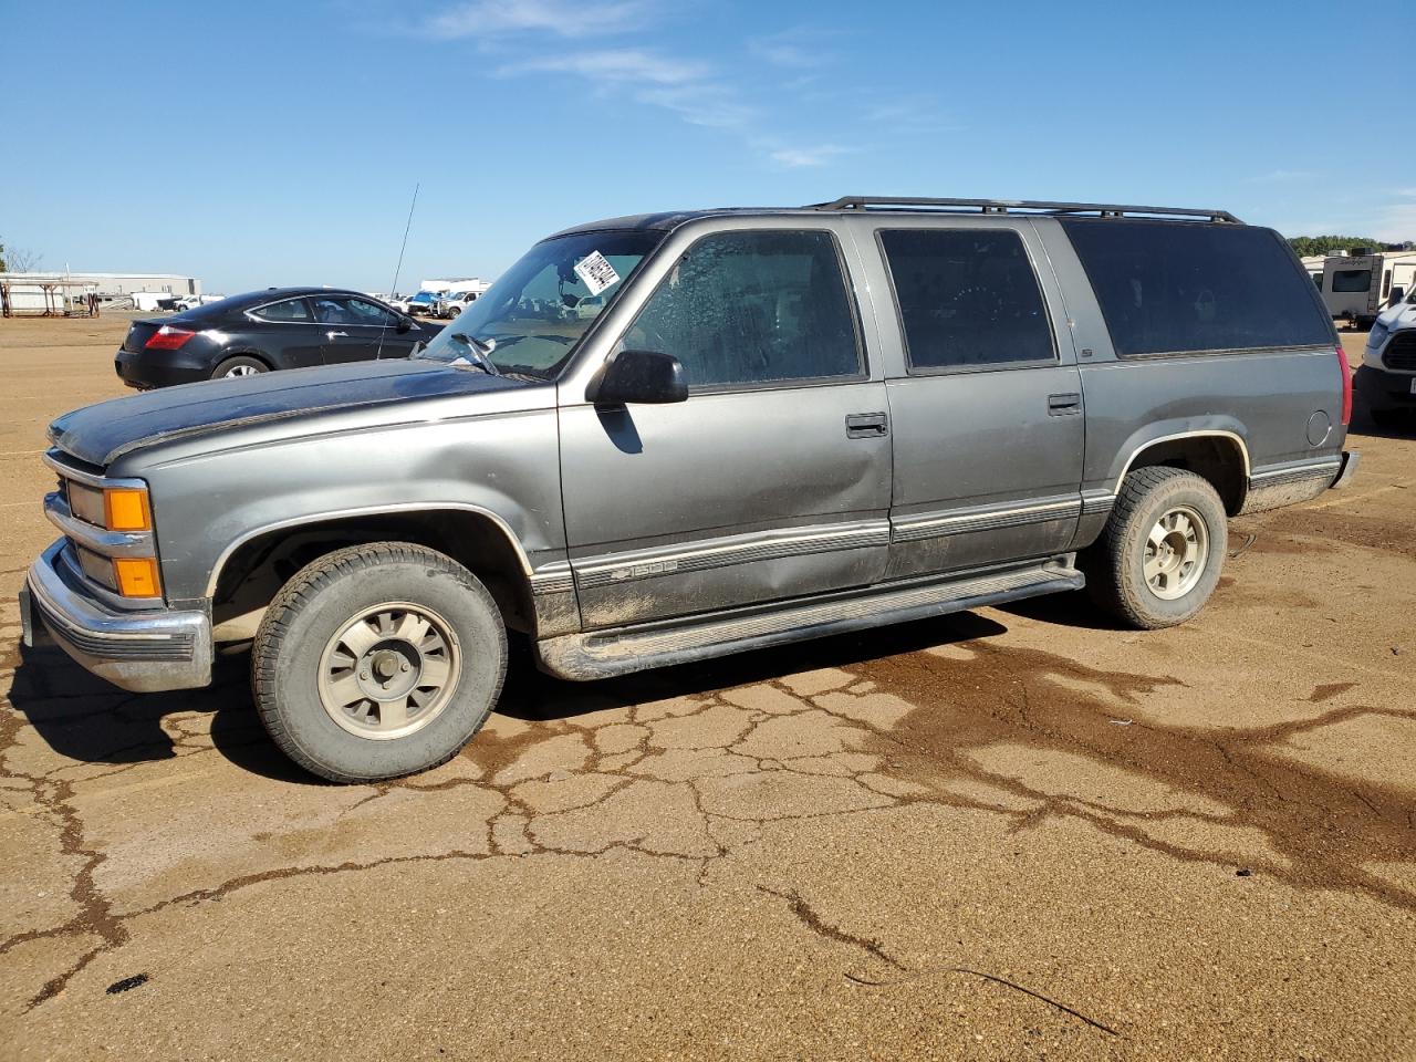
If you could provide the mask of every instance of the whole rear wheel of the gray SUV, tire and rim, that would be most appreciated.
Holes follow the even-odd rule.
[[[1214,593],[1228,541],[1223,503],[1206,480],[1137,469],[1086,558],[1092,599],[1134,627],[1184,623]]]

